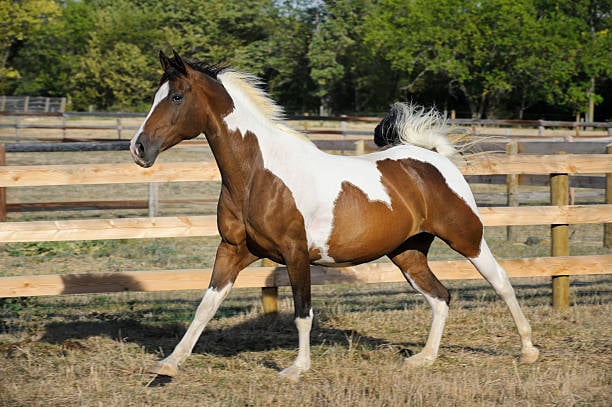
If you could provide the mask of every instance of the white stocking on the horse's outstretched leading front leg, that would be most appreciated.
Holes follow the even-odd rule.
[[[151,373],[176,376],[178,373],[178,365],[191,355],[191,351],[204,331],[204,328],[206,328],[206,325],[215,315],[221,302],[227,294],[229,294],[231,289],[232,284],[230,283],[219,291],[214,288],[206,290],[204,298],[202,298],[202,302],[200,302],[195,317],[189,325],[187,332],[185,332],[183,339],[176,345],[170,356],[158,362],[151,369]]]

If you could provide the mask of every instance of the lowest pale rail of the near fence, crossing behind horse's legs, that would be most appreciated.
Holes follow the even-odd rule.
[[[612,255],[537,257],[499,261],[510,277],[608,274]],[[432,271],[441,280],[480,279],[467,260],[432,261]],[[203,290],[208,287],[211,269],[83,273],[65,275],[0,277],[0,297],[24,297],[123,291]],[[312,283],[368,284],[403,282],[391,263],[367,263],[355,267],[312,267]],[[279,287],[289,285],[285,267],[249,267],[234,287]]]

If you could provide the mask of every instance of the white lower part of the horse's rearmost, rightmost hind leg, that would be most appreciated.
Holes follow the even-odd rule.
[[[484,239],[480,243],[480,254],[478,257],[471,258],[470,261],[508,305],[518,334],[521,337],[521,361],[524,363],[535,362],[539,351],[531,342],[531,326],[529,326],[529,321],[527,321],[527,318],[525,318],[521,311],[521,307],[514,294],[514,289],[508,280],[506,270],[497,263]]]

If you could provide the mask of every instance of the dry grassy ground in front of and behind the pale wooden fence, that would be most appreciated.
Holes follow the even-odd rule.
[[[127,153],[11,154],[7,164],[125,162]],[[162,160],[210,159],[171,150]],[[476,192],[501,187],[477,186]],[[522,187],[523,188],[523,187]],[[214,198],[218,184],[164,184],[165,197]],[[144,185],[19,188],[9,202],[146,199]],[[599,199],[599,198],[598,198]],[[162,215],[214,207],[162,207]],[[12,213],[9,220],[146,216],[146,211]],[[488,228],[499,257],[547,256],[549,227]],[[571,254],[601,254],[601,225],[571,229]],[[0,275],[210,267],[218,238],[143,239],[0,246]],[[455,255],[436,242],[432,258]],[[612,404],[612,277],[572,278],[572,307],[550,307],[550,281],[513,281],[541,358],[517,363],[510,315],[481,281],[447,282],[453,300],[441,355],[404,370],[423,346],[430,310],[407,284],[314,287],[312,370],[278,377],[295,357],[287,288],[280,314],[262,316],[260,291],[235,290],[174,380],[146,370],[172,351],[200,292],[120,293],[0,300],[0,406],[609,406]]]

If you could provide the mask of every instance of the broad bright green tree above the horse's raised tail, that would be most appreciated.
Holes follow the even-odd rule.
[[[529,0],[383,0],[370,13],[366,41],[404,75],[404,86],[446,77],[473,117],[494,115],[514,89],[537,27]]]

